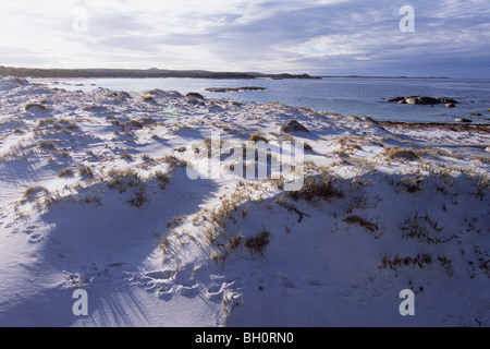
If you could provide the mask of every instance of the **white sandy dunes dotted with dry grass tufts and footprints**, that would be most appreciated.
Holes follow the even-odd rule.
[[[1,326],[490,325],[488,124],[2,77],[0,146]]]

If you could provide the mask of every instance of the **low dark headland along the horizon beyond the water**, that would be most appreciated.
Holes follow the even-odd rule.
[[[204,70],[37,69],[0,65],[0,76],[19,77],[194,77],[194,79],[321,79],[308,74],[211,72]]]

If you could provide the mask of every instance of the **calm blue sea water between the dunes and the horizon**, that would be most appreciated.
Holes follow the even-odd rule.
[[[323,77],[321,80],[207,80],[207,79],[58,79],[42,81],[51,87],[90,91],[106,87],[117,91],[197,92],[209,98],[240,101],[279,101],[290,106],[308,107],[344,116],[369,116],[379,121],[455,122],[456,118],[476,123],[490,122],[490,80],[463,79],[384,79]],[[266,87],[266,91],[212,93],[207,87]],[[399,105],[387,103],[397,96],[450,97],[460,104]],[[481,116],[469,116],[481,113]]]

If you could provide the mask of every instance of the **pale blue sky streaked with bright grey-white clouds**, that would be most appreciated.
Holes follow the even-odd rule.
[[[13,67],[490,77],[490,0],[0,0],[0,38]]]

